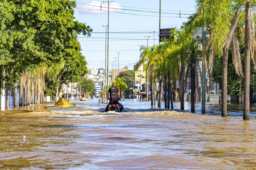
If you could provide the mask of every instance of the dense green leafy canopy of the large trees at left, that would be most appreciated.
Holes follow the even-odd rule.
[[[77,37],[90,36],[92,29],[75,20],[75,7],[72,0],[0,2],[0,71],[7,73],[0,78],[6,87],[41,66],[49,68],[49,94],[60,83],[81,81],[87,68]]]

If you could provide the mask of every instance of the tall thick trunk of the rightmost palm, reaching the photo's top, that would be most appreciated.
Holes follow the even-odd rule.
[[[249,120],[250,113],[250,2],[245,5],[245,47],[244,47],[244,113],[243,119]]]

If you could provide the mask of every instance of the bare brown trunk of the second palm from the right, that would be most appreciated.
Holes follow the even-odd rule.
[[[228,76],[228,48],[223,48],[222,56],[222,94],[221,94],[221,116],[227,117],[227,76]]]

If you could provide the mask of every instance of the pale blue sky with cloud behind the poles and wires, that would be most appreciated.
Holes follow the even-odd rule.
[[[79,42],[81,43],[81,47],[83,49],[82,53],[89,63],[89,68],[104,68],[105,27],[102,27],[102,25],[107,25],[107,12],[100,11],[100,3],[102,1],[99,0],[76,0],[76,2],[76,20],[82,23],[86,23],[86,25],[89,25],[93,29],[90,38],[86,38],[84,36],[80,36],[79,38]],[[107,6],[103,4],[102,10],[107,10],[106,7]],[[144,36],[151,36],[148,40],[149,46],[154,44],[154,35],[153,33],[149,32],[158,32],[159,29],[159,17],[152,17],[159,16],[157,13],[159,12],[159,0],[116,0],[114,3],[110,3],[110,8],[110,11],[114,12],[138,14],[129,15],[114,12],[110,12],[109,14],[109,32],[129,32],[129,34],[109,34],[109,64],[113,64],[112,61],[115,61],[114,57],[117,57],[118,55],[116,52],[120,50],[121,53],[119,54],[119,67],[121,68],[124,66],[129,66],[130,69],[133,69],[133,65],[139,59],[140,55],[138,45],[147,45],[147,38]],[[179,13],[179,10],[181,10],[181,17],[188,17],[189,15],[185,14],[192,14],[196,10],[195,0],[162,0],[162,12]],[[162,14],[162,16],[161,28],[180,28],[182,23],[187,21],[187,18],[179,18],[179,15],[176,14]],[[158,43],[158,40],[156,39],[158,39],[158,33],[155,33],[155,44]]]

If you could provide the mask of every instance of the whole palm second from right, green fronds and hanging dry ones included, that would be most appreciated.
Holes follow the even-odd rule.
[[[209,34],[203,49],[203,63],[207,66],[206,56],[209,51],[210,78],[214,68],[215,55],[222,55],[222,116],[227,116],[227,64],[228,50],[231,48],[236,73],[242,75],[239,43],[235,36],[243,1],[197,0],[197,14],[191,25],[208,27]],[[246,102],[245,102],[246,103]]]

